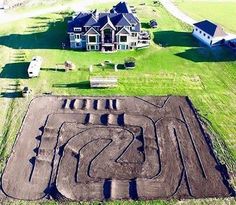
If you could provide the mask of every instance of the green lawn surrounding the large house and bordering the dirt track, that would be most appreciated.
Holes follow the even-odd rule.
[[[227,48],[199,47],[191,29],[162,7],[131,2],[137,7],[143,27],[147,27],[150,19],[158,19],[159,28],[150,30],[153,41],[148,49],[113,54],[62,50],[69,13],[30,18],[0,28],[0,173],[30,98],[53,92],[57,95],[188,95],[215,134],[217,156],[227,164],[232,175],[236,174],[236,54]],[[27,79],[26,62],[35,55],[43,57],[43,70],[39,78]],[[88,72],[91,64],[104,60],[123,63],[128,56],[137,60],[133,71],[96,68],[92,74]],[[77,70],[56,71],[56,64],[65,60],[73,61]],[[119,87],[90,89],[90,75],[118,76]],[[19,84],[29,86],[33,96],[17,98]],[[218,203],[224,204],[222,200],[217,200]]]

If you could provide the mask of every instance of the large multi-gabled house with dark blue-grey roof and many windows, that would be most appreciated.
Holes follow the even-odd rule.
[[[88,51],[127,50],[150,43],[149,34],[141,31],[135,10],[125,2],[106,13],[79,13],[68,22],[68,34],[71,48]]]

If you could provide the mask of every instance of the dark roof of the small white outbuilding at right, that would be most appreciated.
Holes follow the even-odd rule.
[[[227,35],[221,26],[216,25],[208,20],[204,20],[193,25],[203,30],[212,37],[220,37]]]

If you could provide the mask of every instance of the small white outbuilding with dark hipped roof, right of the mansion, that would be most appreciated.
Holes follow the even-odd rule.
[[[193,36],[208,46],[216,46],[225,43],[227,33],[223,28],[208,20],[193,24]]]

